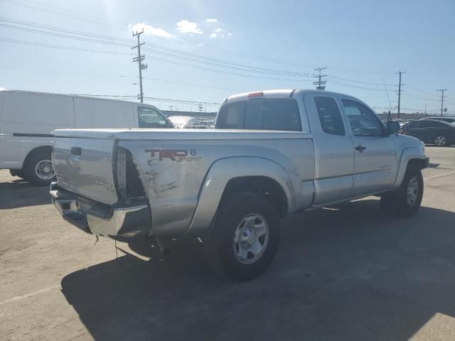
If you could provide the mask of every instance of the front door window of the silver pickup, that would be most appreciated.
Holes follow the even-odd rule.
[[[382,123],[370,109],[359,102],[343,99],[344,112],[354,136],[381,136]]]

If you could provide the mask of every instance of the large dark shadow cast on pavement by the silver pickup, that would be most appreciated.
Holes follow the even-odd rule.
[[[408,340],[455,316],[454,222],[360,200],[289,217],[274,263],[247,283],[213,274],[189,240],[164,261],[123,256],[61,284],[95,340]]]

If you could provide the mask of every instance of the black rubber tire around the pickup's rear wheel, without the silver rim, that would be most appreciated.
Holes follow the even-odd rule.
[[[264,237],[267,238],[267,243],[263,239],[264,247],[257,259],[242,262],[237,256],[238,249],[235,249],[240,245],[240,242],[235,243],[235,234],[237,227],[248,216],[264,219],[265,226],[268,227],[267,237]],[[257,220],[254,224],[256,222]],[[246,228],[247,224],[243,226]],[[247,281],[262,274],[272,263],[277,254],[279,239],[279,216],[269,200],[255,193],[232,193],[223,197],[215,222],[204,236],[204,254],[208,264],[219,274],[236,281]],[[259,238],[257,241],[260,243]],[[247,256],[251,254],[248,252]]]

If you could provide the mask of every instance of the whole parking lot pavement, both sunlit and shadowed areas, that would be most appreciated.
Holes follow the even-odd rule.
[[[292,215],[246,283],[213,274],[198,240],[164,258],[95,244],[0,171],[0,339],[455,340],[455,148],[427,155],[416,216],[377,197]]]

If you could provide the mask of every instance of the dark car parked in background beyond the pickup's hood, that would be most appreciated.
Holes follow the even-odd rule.
[[[401,133],[439,147],[455,144],[455,124],[439,119],[412,121],[402,126]]]

